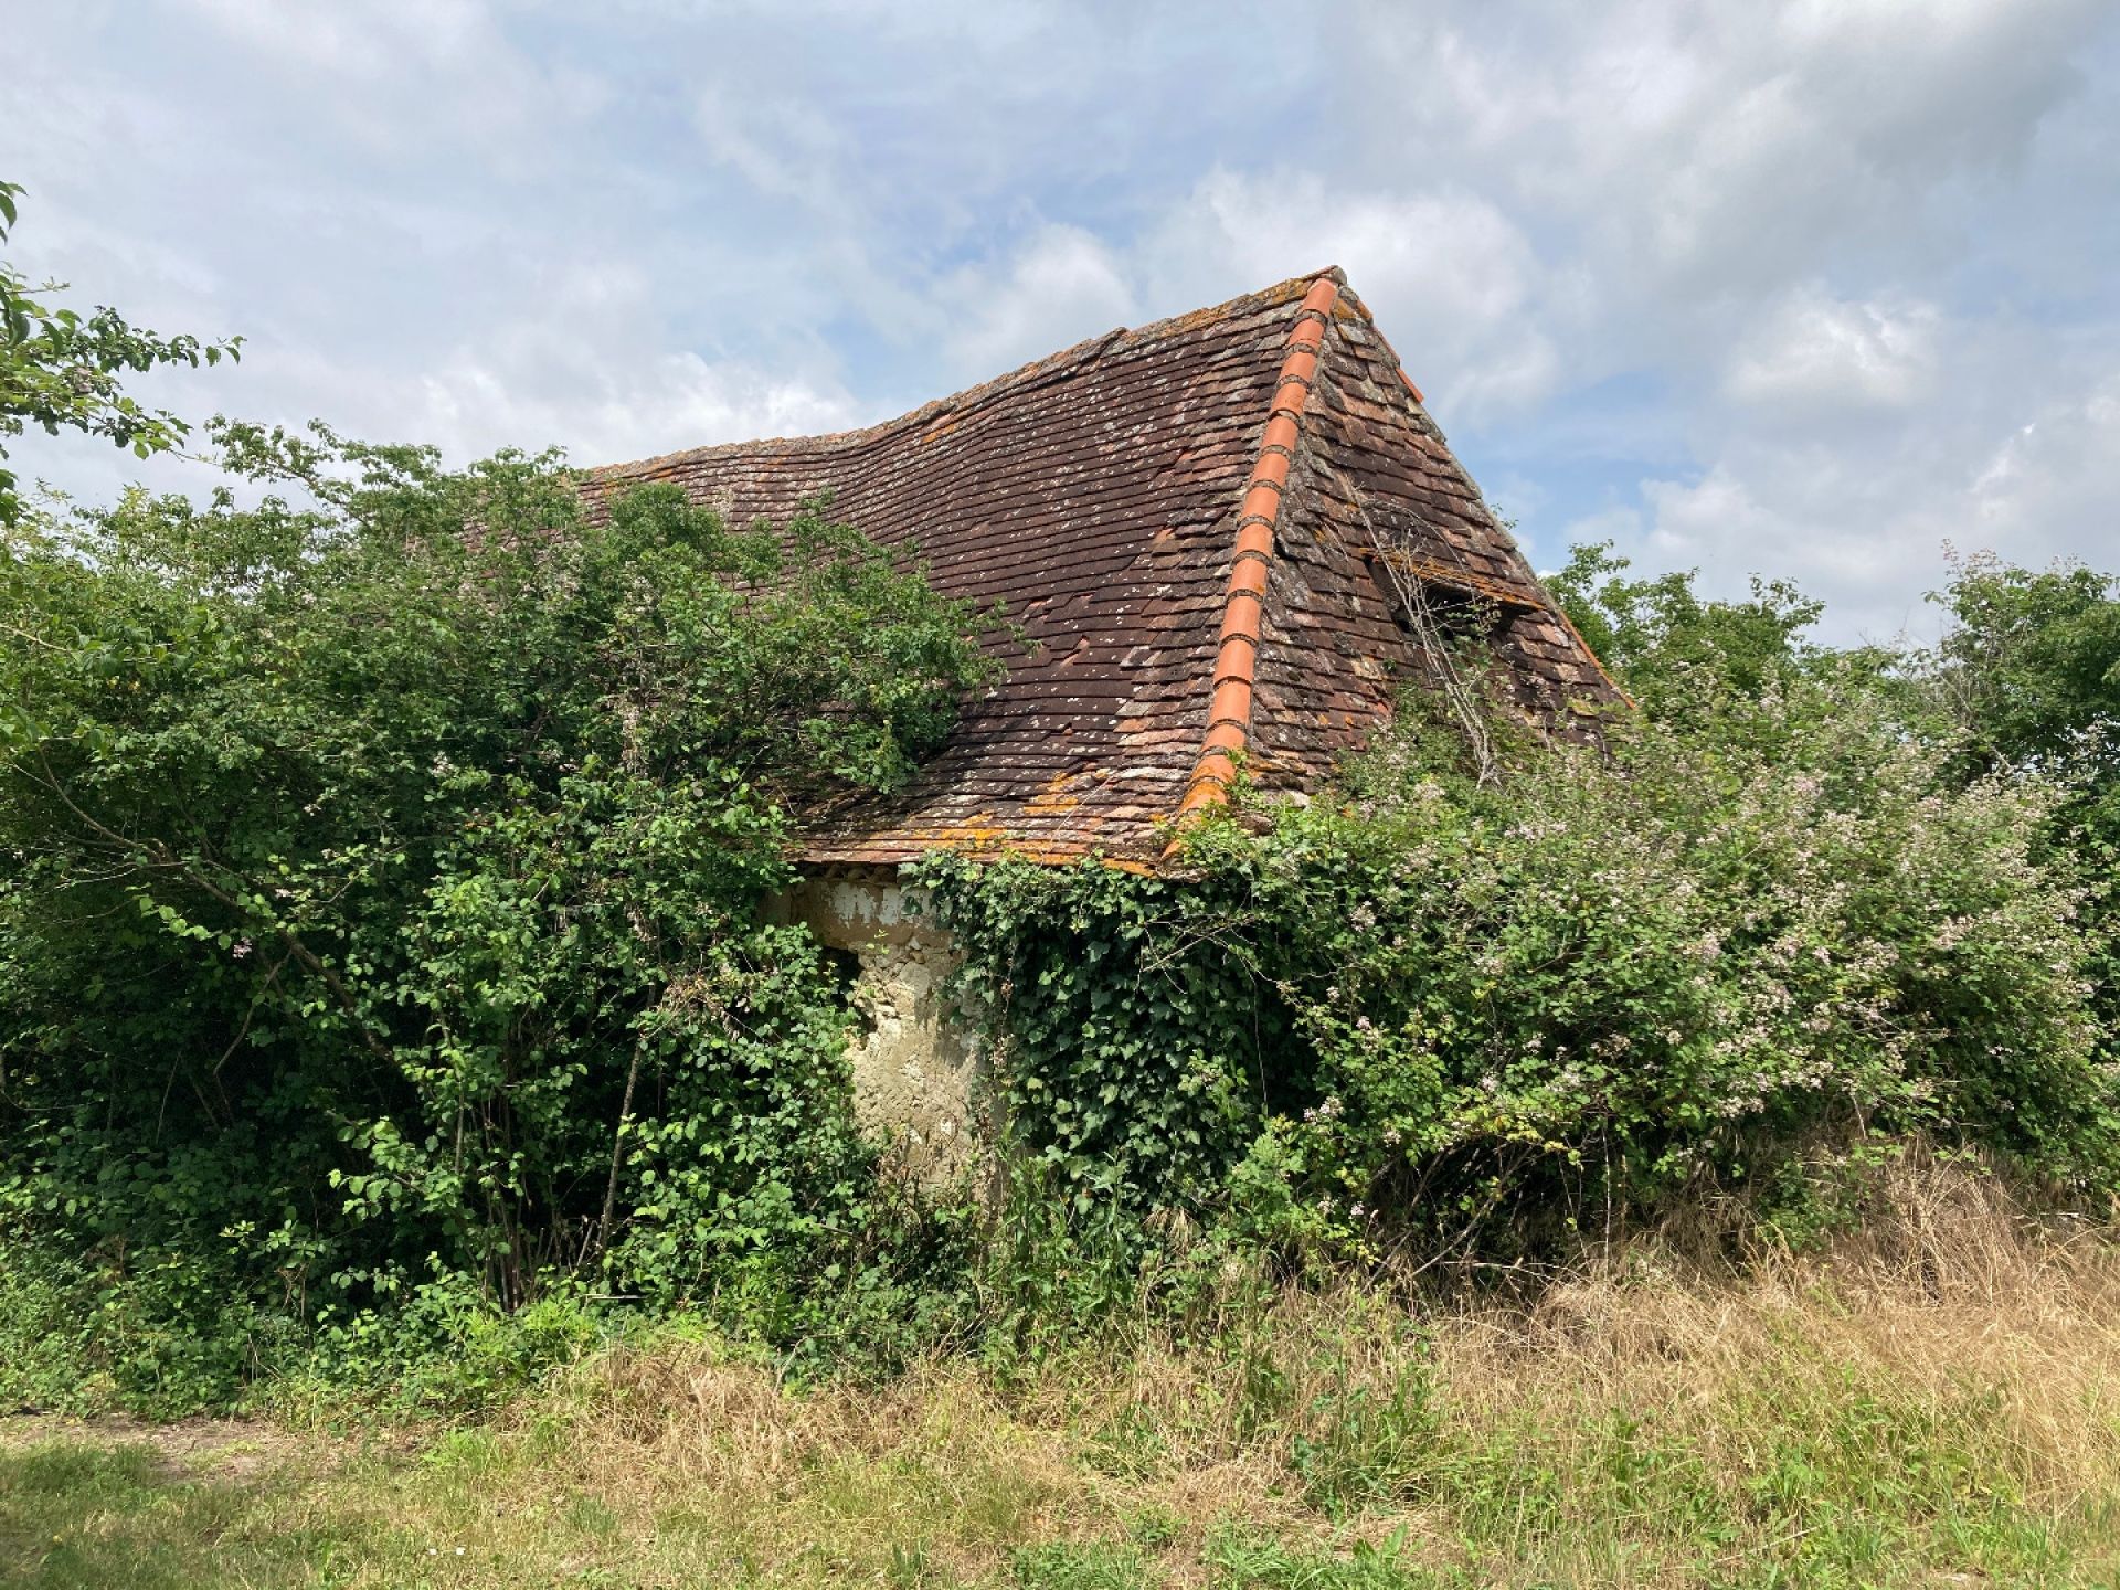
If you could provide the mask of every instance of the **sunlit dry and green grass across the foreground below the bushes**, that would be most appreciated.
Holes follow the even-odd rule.
[[[2116,1234],[1878,1177],[1823,1253],[1668,1230],[1529,1302],[1289,1291],[1009,1376],[613,1350],[259,1526],[341,1531],[363,1586],[2112,1584]]]

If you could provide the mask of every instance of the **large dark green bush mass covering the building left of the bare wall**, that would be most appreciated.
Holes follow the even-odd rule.
[[[223,1378],[392,1297],[770,1306],[871,1177],[759,903],[988,676],[977,615],[820,511],[223,441],[257,507],[0,545],[0,1225]]]

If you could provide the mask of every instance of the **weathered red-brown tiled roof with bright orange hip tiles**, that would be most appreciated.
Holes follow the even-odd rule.
[[[638,481],[731,522],[829,492],[833,517],[1022,628],[992,640],[1007,678],[914,787],[827,816],[814,863],[1153,861],[1158,829],[1219,799],[1238,759],[1266,789],[1325,778],[1433,678],[1437,611],[1480,615],[1526,717],[1615,700],[1338,269],[867,430],[596,471]]]

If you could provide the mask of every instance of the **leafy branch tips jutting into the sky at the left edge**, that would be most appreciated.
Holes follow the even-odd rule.
[[[0,182],[0,244],[15,229],[21,195],[19,182]],[[167,409],[146,409],[127,396],[121,375],[157,365],[197,367],[240,358],[242,337],[204,343],[197,337],[159,337],[129,324],[117,310],[81,314],[55,305],[51,295],[61,286],[32,284],[0,261],[0,443],[32,424],[49,435],[81,430],[104,437],[138,458],[182,443],[189,426]],[[19,517],[21,498],[0,445],[0,524]]]

